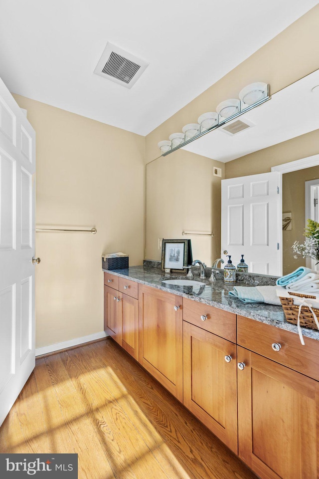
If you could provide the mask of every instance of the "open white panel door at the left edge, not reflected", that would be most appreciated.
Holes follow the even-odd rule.
[[[35,132],[0,79],[0,425],[35,364]]]

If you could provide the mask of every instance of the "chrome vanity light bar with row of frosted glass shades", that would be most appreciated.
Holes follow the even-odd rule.
[[[319,85],[315,86],[312,91],[315,91],[316,89],[319,91]],[[179,140],[181,138],[178,137],[177,140],[177,136],[175,136],[177,133],[172,133],[169,136],[169,140],[160,141],[158,147],[160,148],[161,156],[166,156],[169,153],[182,148],[191,141],[196,140],[196,138],[206,135],[208,132],[225,125],[225,123],[228,123],[243,113],[252,110],[256,106],[265,103],[265,101],[270,100],[269,84],[261,81],[251,83],[250,85],[245,86],[238,96],[239,99],[232,98],[219,103],[216,108],[217,113],[208,112],[200,115],[198,117],[198,124],[189,123],[188,125],[185,125],[182,129],[185,136],[180,143]]]

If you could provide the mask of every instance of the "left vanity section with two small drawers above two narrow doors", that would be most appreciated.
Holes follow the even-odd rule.
[[[107,284],[112,284],[112,287]],[[135,281],[104,273],[104,330],[136,360],[139,358],[137,296],[138,284]]]

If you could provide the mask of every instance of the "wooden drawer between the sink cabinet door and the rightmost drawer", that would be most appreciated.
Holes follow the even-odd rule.
[[[201,316],[207,316],[204,321]],[[183,320],[236,342],[236,314],[183,298]]]

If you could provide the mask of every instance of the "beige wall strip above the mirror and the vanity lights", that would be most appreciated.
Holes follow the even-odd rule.
[[[292,23],[227,75],[163,122],[146,137],[146,162],[159,156],[157,144],[218,103],[238,97],[254,81],[270,84],[271,94],[319,68],[319,5]],[[177,87],[176,87],[177,88]]]

